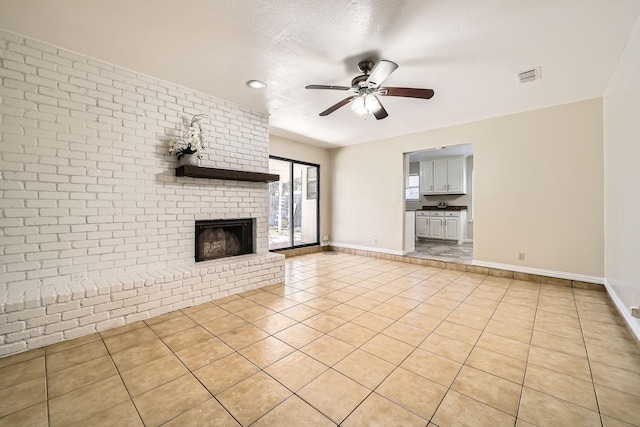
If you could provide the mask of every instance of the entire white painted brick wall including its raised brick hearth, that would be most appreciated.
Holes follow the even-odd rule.
[[[175,177],[194,114],[203,166],[268,171],[266,114],[0,30],[0,355],[282,281],[267,184]],[[196,266],[194,222],[239,217],[263,268]]]

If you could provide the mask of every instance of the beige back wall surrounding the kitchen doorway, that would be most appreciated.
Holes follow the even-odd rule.
[[[333,241],[401,252],[402,154],[458,144],[474,147],[475,260],[603,276],[601,98],[332,150]]]

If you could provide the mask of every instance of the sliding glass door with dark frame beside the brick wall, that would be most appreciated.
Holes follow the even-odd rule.
[[[320,166],[279,157],[269,158],[269,249],[317,245]]]

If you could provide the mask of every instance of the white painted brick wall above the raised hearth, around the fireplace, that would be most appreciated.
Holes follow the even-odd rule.
[[[192,262],[196,219],[257,218],[266,184],[176,178],[167,140],[203,119],[202,164],[268,171],[267,116],[0,32],[0,283],[29,289]]]

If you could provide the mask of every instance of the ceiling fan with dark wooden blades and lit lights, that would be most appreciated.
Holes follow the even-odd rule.
[[[431,89],[417,89],[409,87],[381,87],[380,85],[393,73],[398,64],[391,61],[380,60],[377,64],[373,61],[360,61],[358,68],[363,73],[351,81],[348,86],[308,85],[305,89],[330,89],[353,92],[355,95],[343,99],[337,104],[327,108],[321,116],[328,116],[340,107],[352,102],[351,109],[358,114],[373,114],[377,120],[384,119],[389,114],[384,109],[377,95],[403,96],[406,98],[431,99],[434,92]]]

